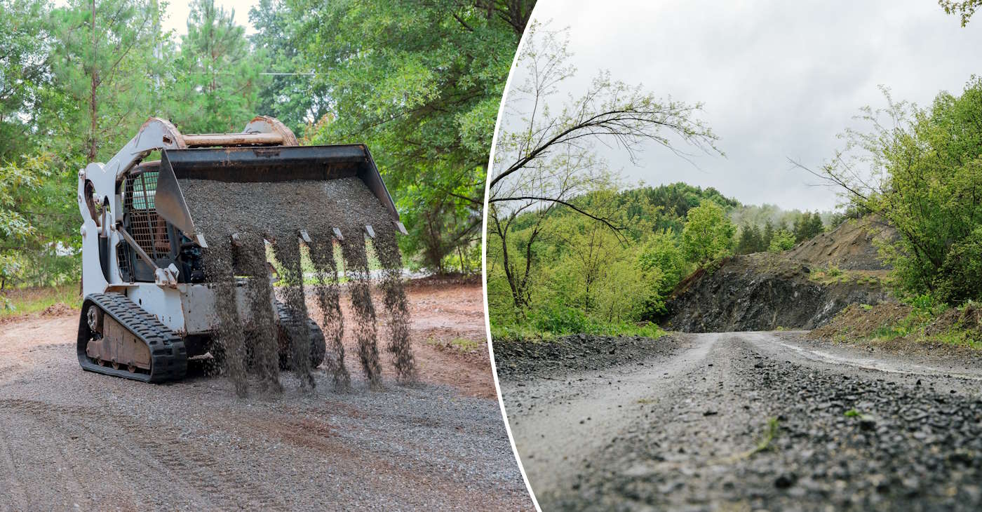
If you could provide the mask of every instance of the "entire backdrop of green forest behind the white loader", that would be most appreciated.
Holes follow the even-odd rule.
[[[491,136],[533,4],[263,0],[246,37],[195,0],[178,37],[154,0],[0,0],[0,284],[78,279],[76,173],[150,116],[221,133],[273,115],[303,143],[365,142],[410,261],[479,269]]]

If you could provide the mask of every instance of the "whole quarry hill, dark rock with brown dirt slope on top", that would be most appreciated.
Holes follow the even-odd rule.
[[[676,287],[661,323],[683,332],[812,329],[850,304],[893,302],[881,282],[888,266],[874,242],[893,236],[889,227],[863,219],[780,255],[725,258]],[[827,272],[830,264],[845,272]]]

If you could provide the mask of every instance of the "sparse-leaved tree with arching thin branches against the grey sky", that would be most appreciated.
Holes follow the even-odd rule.
[[[602,163],[592,156],[592,144],[611,143],[631,157],[643,142],[657,142],[680,153],[677,140],[700,150],[715,151],[716,137],[696,118],[699,105],[663,100],[639,86],[611,80],[601,73],[587,91],[562,104],[551,105],[561,85],[573,77],[565,32],[529,28],[518,55],[518,73],[527,77],[513,85],[506,98],[503,127],[495,148],[488,182],[489,233],[499,238],[514,306],[521,299],[532,264],[520,270],[509,253],[509,230],[521,211],[549,212],[569,208],[600,222],[622,237],[625,226],[601,212],[590,211],[570,199],[616,184]],[[533,231],[533,237],[538,236]],[[527,241],[530,246],[534,238]],[[526,252],[532,253],[526,246]]]

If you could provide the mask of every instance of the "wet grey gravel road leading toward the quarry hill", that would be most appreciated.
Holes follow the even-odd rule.
[[[601,340],[589,369],[541,358],[547,370],[506,371],[509,422],[540,505],[982,507],[982,369],[802,334],[673,335],[643,360],[598,369],[620,343]],[[499,367],[535,360],[495,349]]]

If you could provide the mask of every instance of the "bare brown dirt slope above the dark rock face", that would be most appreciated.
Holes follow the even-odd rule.
[[[877,252],[877,243],[897,239],[897,231],[874,217],[848,220],[838,228],[806,240],[784,256],[817,266],[843,270],[883,270],[890,265]]]

